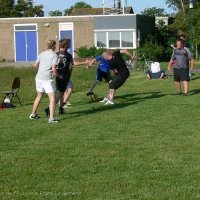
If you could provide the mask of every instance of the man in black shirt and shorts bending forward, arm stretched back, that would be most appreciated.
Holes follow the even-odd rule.
[[[115,51],[114,53],[109,50],[104,54],[104,58],[110,60],[111,69],[117,73],[117,76],[109,82],[109,94],[105,105],[114,104],[113,99],[116,90],[120,88],[129,77],[130,72],[122,58],[122,54],[129,55],[127,50]]]

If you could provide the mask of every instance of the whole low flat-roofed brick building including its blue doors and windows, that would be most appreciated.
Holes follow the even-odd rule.
[[[68,39],[74,57],[81,46],[136,49],[154,28],[154,17],[135,14],[1,18],[0,60],[34,61],[48,39]]]

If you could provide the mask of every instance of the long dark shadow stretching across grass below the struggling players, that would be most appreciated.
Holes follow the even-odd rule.
[[[137,97],[138,95],[148,95],[143,97]],[[138,104],[143,101],[149,100],[149,99],[157,99],[165,96],[165,94],[162,94],[160,92],[152,92],[152,93],[130,93],[122,96],[117,96],[118,99],[123,99],[124,101],[122,103],[117,103],[115,105],[104,105],[102,106],[97,105],[96,108],[88,109],[88,110],[81,110],[70,113],[70,118],[76,118],[80,116],[85,116],[89,114],[94,114],[97,112],[104,112],[108,110],[118,110],[123,109],[125,107],[128,107],[130,105]],[[61,120],[68,119],[69,117],[62,118]]]

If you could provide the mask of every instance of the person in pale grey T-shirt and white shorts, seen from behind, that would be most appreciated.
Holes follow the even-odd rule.
[[[42,52],[34,67],[38,69],[37,75],[35,77],[37,97],[33,104],[32,113],[30,119],[39,119],[36,111],[42,100],[43,94],[47,93],[49,96],[49,110],[50,117],[49,123],[56,123],[58,120],[55,118],[55,86],[53,81],[53,76],[56,76],[56,65],[58,62],[58,56],[54,52],[56,49],[56,42],[54,40],[49,40],[47,44],[47,50]]]

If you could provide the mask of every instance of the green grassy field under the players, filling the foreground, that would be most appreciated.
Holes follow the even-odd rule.
[[[34,69],[0,69],[1,90],[21,77],[16,108],[0,110],[0,199],[200,199],[200,75],[190,96],[177,96],[172,77],[147,80],[131,72],[116,105],[85,93],[95,69],[77,68],[75,93],[58,124],[30,120]],[[95,92],[107,94],[105,82]],[[58,108],[57,108],[58,113]]]

